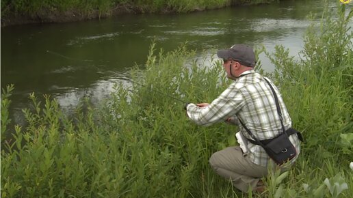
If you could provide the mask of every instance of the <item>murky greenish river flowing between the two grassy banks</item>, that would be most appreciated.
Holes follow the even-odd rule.
[[[84,96],[92,102],[106,98],[114,83],[122,81],[112,72],[129,76],[129,68],[143,66],[152,40],[165,51],[187,41],[190,49],[209,52],[199,56],[214,56],[235,43],[263,45],[268,51],[282,44],[298,57],[311,23],[306,16],[312,12],[319,18],[323,8],[322,1],[280,1],[189,14],[125,14],[3,27],[1,87],[14,84],[11,115],[22,123],[21,109],[29,107],[31,92],[50,94],[66,111]],[[263,69],[274,69],[265,55],[260,58]]]

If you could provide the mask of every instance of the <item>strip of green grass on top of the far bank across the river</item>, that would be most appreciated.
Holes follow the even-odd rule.
[[[117,8],[133,10],[133,12],[190,12],[222,8],[233,3],[258,4],[270,3],[274,0],[1,0],[1,17],[11,20],[12,17],[25,16],[40,18],[42,21],[54,18],[110,16]]]

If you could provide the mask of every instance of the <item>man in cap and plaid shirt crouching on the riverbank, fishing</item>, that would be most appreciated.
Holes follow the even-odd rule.
[[[276,86],[270,79],[254,72],[256,60],[251,47],[235,44],[218,51],[217,55],[223,59],[224,70],[234,82],[210,104],[189,103],[185,109],[189,119],[199,125],[226,121],[239,126],[242,135],[249,140],[247,152],[242,152],[238,146],[227,147],[215,152],[209,163],[218,175],[230,179],[237,189],[246,192],[250,187],[254,192],[262,192],[264,186],[260,179],[267,175],[270,165],[275,167],[276,164],[253,137],[261,142],[273,139],[291,128],[291,118]],[[278,98],[281,115],[270,85]],[[298,158],[300,141],[296,133],[289,136],[289,141],[296,150],[296,156],[289,160],[291,165]]]

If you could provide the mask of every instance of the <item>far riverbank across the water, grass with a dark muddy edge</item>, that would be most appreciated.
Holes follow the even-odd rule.
[[[184,13],[214,10],[233,5],[257,5],[274,0],[203,1],[7,1],[1,0],[1,27],[28,23],[63,23],[121,14]]]

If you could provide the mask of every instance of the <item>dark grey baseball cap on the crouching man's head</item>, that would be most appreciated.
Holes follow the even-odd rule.
[[[239,61],[241,65],[247,67],[254,67],[256,63],[254,51],[250,46],[244,44],[235,44],[229,49],[220,50],[217,55],[222,59]]]

